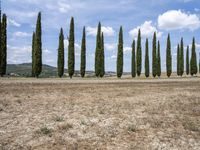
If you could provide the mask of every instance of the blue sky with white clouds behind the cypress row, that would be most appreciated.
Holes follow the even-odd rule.
[[[145,40],[149,39],[151,65],[152,36],[157,33],[161,43],[161,66],[166,70],[166,40],[171,35],[173,70],[176,70],[176,47],[184,38],[191,48],[196,39],[200,52],[199,0],[2,0],[2,11],[8,17],[8,63],[31,62],[32,33],[37,14],[42,12],[43,63],[57,66],[60,28],[65,35],[65,68],[67,68],[67,36],[70,19],[75,20],[75,69],[80,68],[80,49],[83,27],[87,34],[86,70],[94,70],[97,25],[100,21],[105,38],[105,69],[116,70],[118,32],[124,31],[124,71],[131,71],[131,44],[142,34],[144,71]],[[185,49],[186,53],[186,49]],[[151,68],[151,67],[150,67]]]

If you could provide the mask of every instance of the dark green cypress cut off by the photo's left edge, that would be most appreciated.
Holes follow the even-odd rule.
[[[6,14],[3,14],[0,28],[1,28],[0,75],[3,76],[6,74],[6,66],[7,66],[7,16]]]

